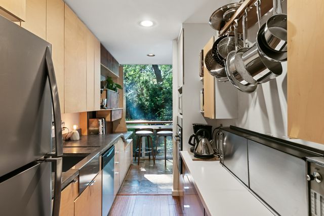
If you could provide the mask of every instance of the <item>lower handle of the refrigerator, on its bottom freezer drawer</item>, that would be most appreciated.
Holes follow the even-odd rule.
[[[62,185],[62,157],[52,158],[46,156],[43,159],[37,160],[39,162],[53,162],[55,165],[54,177],[54,198],[52,216],[59,216],[61,204],[61,185]]]

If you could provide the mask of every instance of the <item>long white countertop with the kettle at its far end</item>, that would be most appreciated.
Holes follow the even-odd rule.
[[[209,215],[273,216],[219,161],[193,161],[187,151],[181,156]]]

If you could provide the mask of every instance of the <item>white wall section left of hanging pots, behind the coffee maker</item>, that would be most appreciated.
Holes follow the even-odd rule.
[[[188,140],[192,123],[217,124],[205,119],[200,113],[200,90],[203,82],[199,77],[199,53],[208,40],[216,33],[209,24],[183,24],[184,29],[184,85],[182,87],[183,150],[190,150]]]

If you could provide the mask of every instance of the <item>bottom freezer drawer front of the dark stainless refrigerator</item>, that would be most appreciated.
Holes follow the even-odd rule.
[[[51,215],[51,164],[32,167],[0,183],[0,215]]]

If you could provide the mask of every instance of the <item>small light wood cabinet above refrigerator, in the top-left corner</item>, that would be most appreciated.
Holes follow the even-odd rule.
[[[19,22],[26,19],[26,0],[0,0],[0,15]]]

